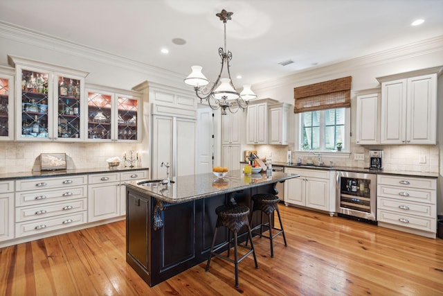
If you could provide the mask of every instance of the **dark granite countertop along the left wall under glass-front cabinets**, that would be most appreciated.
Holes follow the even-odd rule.
[[[83,174],[98,174],[98,173],[112,173],[112,172],[125,172],[125,171],[140,171],[140,170],[147,170],[147,169],[149,169],[149,168],[139,166],[139,167],[134,167],[134,168],[129,168],[129,167],[73,168],[71,170],[60,170],[60,171],[3,173],[3,174],[0,174],[0,181],[26,179],[26,178],[37,178],[37,177],[63,177],[66,175],[83,175]]]

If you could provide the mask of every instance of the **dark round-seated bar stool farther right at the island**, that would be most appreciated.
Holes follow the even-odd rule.
[[[253,229],[251,229],[251,232],[253,234],[259,235],[260,237],[269,238],[269,241],[271,242],[271,258],[273,258],[274,256],[273,238],[275,238],[275,236],[282,234],[284,246],[287,246],[286,237],[284,236],[284,230],[282,225],[282,218],[280,218],[280,211],[278,211],[278,202],[280,201],[280,198],[270,193],[259,193],[253,195],[252,200],[253,200],[253,209],[251,211],[251,217],[249,218],[250,223],[252,223],[252,218],[255,211],[261,211],[260,212],[261,216],[260,216],[260,224],[253,227]],[[276,228],[273,225],[272,216],[271,216],[273,214],[273,211],[277,211],[278,221],[280,222],[280,228]],[[263,223],[263,214],[266,214],[266,216],[268,216],[267,223]],[[263,234],[263,227],[269,229],[269,236],[265,236]],[[260,233],[255,232],[257,229],[260,229]],[[272,230],[277,230],[278,232],[272,234]],[[248,244],[248,239],[246,238],[246,245],[247,244]]]

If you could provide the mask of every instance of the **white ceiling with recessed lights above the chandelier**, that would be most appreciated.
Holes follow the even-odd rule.
[[[226,33],[237,87],[443,35],[442,0],[1,0],[0,21],[183,78],[199,64],[214,80],[221,9],[234,12]]]

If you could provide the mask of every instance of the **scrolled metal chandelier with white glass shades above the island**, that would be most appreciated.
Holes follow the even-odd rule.
[[[213,110],[221,107],[221,115],[226,115],[226,109],[231,113],[236,113],[239,109],[244,111],[248,106],[248,101],[257,98],[251,89],[251,85],[243,85],[242,92],[238,93],[233,85],[233,80],[230,79],[229,62],[233,55],[230,51],[226,51],[226,21],[230,20],[231,15],[233,15],[233,12],[227,12],[226,10],[221,10],[216,15],[224,24],[224,48],[219,48],[221,69],[217,80],[211,87],[207,87],[209,80],[201,73],[202,67],[200,66],[192,66],[192,72],[184,80],[187,85],[194,87],[200,103],[207,101],[209,107]],[[221,74],[225,65],[228,77],[222,78]]]

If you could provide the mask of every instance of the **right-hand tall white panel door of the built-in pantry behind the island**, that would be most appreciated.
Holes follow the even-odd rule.
[[[175,136],[175,153],[177,168],[174,175],[195,175],[197,159],[196,130],[197,121],[188,119],[176,119],[177,128]]]

